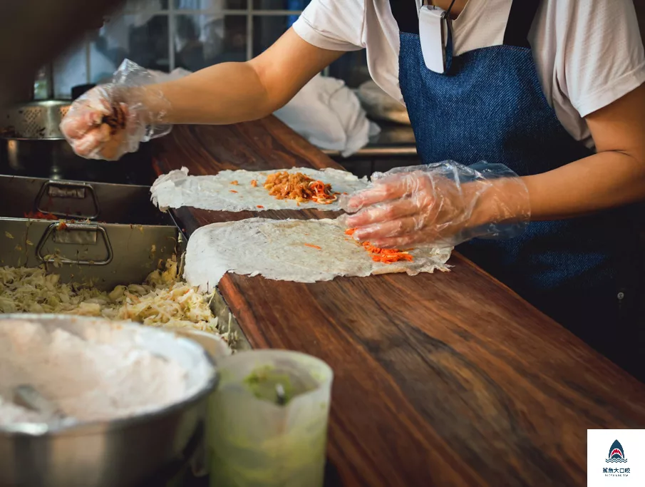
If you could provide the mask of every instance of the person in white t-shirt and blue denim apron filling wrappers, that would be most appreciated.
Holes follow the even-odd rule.
[[[406,104],[424,165],[352,195],[354,235],[382,247],[461,244],[639,374],[629,312],[640,289],[645,55],[631,0],[313,0],[251,61],[96,88],[63,131],[81,155],[118,158],[146,133],[133,127],[267,116],[362,48],[373,80]],[[129,128],[100,135],[100,107],[115,103]]]

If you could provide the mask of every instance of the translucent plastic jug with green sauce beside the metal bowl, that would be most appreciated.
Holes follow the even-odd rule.
[[[258,350],[218,361],[209,411],[211,487],[321,487],[331,368],[298,352]]]

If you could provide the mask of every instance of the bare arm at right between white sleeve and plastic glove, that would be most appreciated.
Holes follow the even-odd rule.
[[[645,84],[589,114],[597,154],[522,178],[532,220],[559,220],[645,200]],[[495,215],[495,195],[513,198],[502,180],[481,205],[480,220]],[[512,189],[512,185],[509,186]]]

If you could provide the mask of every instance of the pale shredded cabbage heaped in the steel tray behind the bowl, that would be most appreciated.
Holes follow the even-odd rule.
[[[63,284],[41,268],[0,267],[0,311],[63,313],[130,319],[151,327],[194,328],[217,332],[208,299],[177,280],[177,261],[167,260],[143,284],[102,292],[91,284]],[[222,335],[228,339],[227,334]]]

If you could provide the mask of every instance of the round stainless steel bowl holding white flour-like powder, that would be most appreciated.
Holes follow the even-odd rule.
[[[207,396],[217,373],[204,349],[189,339],[138,324],[48,314],[4,314],[85,336],[103,328],[172,357],[188,372],[194,391],[165,409],[74,426],[15,424],[0,429],[0,486],[130,487],[160,485],[183,466],[204,434]]]

